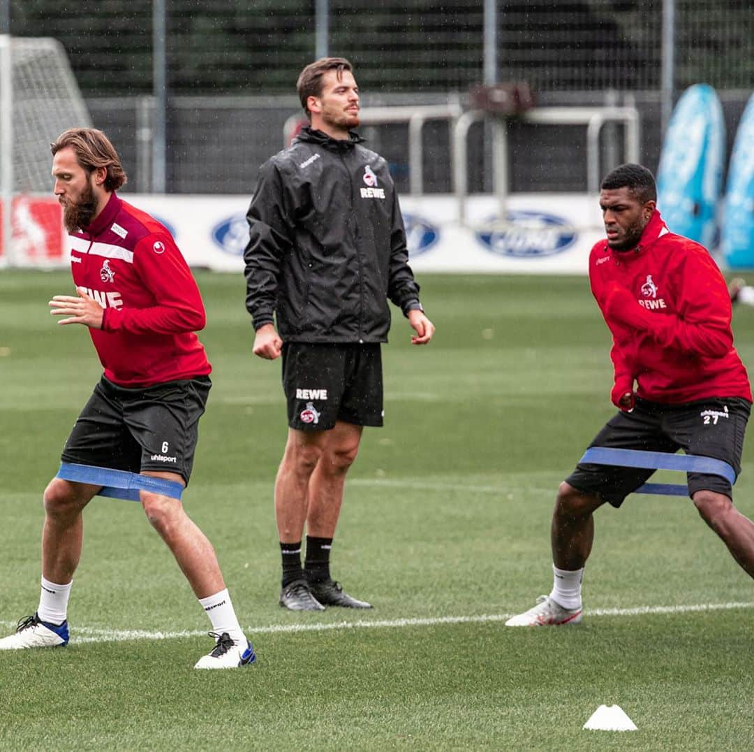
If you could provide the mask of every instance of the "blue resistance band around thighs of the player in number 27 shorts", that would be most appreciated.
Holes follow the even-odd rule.
[[[640,452],[636,449],[611,449],[593,446],[584,452],[579,462],[618,467],[644,467],[647,470],[681,470],[684,473],[719,475],[731,485],[736,482],[736,471],[722,460],[697,455],[670,455],[667,452]],[[688,496],[688,486],[676,483],[645,483],[636,488],[636,494],[663,496]]]

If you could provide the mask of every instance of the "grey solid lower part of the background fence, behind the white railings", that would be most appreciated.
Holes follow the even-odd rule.
[[[719,92],[728,127],[728,149],[749,91]],[[447,95],[365,94],[364,106],[437,104]],[[640,156],[657,168],[661,149],[661,98],[657,91],[553,92],[539,97],[541,106],[636,106],[641,116]],[[93,122],[118,144],[130,176],[129,190],[151,190],[150,131],[139,120],[149,118],[149,98],[87,100]],[[168,118],[167,186],[170,193],[243,193],[253,190],[259,165],[283,148],[284,123],[300,112],[296,97],[175,97]],[[148,122],[148,121],[147,121]],[[360,128],[367,145],[388,159],[402,193],[409,190],[408,125]],[[142,140],[139,141],[139,134]],[[534,125],[513,120],[508,125],[510,190],[514,192],[585,190],[587,142],[584,125]],[[625,158],[624,130],[605,125],[600,137],[603,168]],[[483,123],[469,134],[468,170],[471,192],[492,191],[489,133]],[[446,122],[428,122],[422,134],[422,174],[427,193],[452,191],[451,134]]]

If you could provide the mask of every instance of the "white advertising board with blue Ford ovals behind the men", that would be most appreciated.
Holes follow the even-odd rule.
[[[164,223],[192,267],[244,268],[248,196],[123,198]],[[605,237],[597,196],[516,194],[500,223],[495,196],[471,196],[464,223],[455,196],[405,196],[411,265],[417,272],[586,274],[592,245]]]

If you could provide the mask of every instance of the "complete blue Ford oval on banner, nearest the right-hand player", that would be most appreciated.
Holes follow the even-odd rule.
[[[494,224],[495,220],[497,217],[490,217],[487,223]],[[499,230],[477,233],[487,250],[516,258],[552,256],[570,248],[577,238],[571,223],[542,211],[509,211],[508,223]]]

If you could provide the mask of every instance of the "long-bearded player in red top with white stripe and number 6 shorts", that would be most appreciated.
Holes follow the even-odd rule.
[[[216,645],[195,667],[253,663],[213,547],[179,499],[211,386],[195,334],[205,319],[198,287],[167,229],[116,195],[126,174],[105,134],[72,128],[51,151],[76,291],[55,295],[51,313],[64,317],[60,324],[88,328],[104,373],[66,442],[60,473],[44,491],[39,607],[0,640],[0,649],[68,643],[82,511],[109,478],[127,477],[212,622]]]

